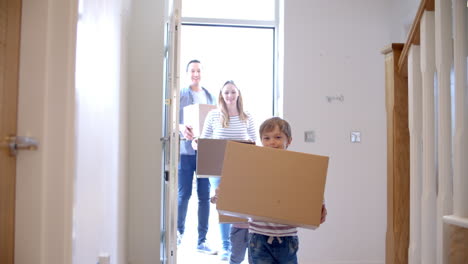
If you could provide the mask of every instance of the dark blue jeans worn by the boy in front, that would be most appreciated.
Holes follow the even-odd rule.
[[[297,264],[297,236],[274,237],[252,234],[249,252],[254,264]]]

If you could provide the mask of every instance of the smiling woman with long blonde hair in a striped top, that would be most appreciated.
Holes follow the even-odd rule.
[[[205,125],[200,138],[228,139],[228,140],[250,140],[255,142],[256,129],[251,115],[244,111],[242,95],[233,81],[224,83],[218,96],[218,109],[208,113],[205,119]],[[219,186],[220,178],[210,178],[211,186],[216,189]],[[231,241],[229,235],[231,232],[230,224],[219,224],[221,231],[221,240],[223,242],[220,257],[222,260],[228,260],[231,252]],[[248,226],[235,224],[232,234],[248,235]],[[239,229],[244,229],[237,232]],[[233,237],[234,238],[234,237]],[[242,239],[240,239],[242,240]],[[233,241],[239,241],[235,238]],[[242,240],[242,241],[245,241]],[[240,263],[244,259],[247,244],[232,245],[231,263]],[[239,259],[240,262],[238,261]]]

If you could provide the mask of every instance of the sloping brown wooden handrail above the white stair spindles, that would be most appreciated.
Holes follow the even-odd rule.
[[[414,18],[413,24],[408,34],[408,39],[406,40],[403,51],[401,52],[400,59],[398,60],[398,73],[404,76],[408,76],[408,52],[411,45],[419,45],[420,40],[420,31],[419,25],[421,24],[421,18],[424,14],[424,11],[434,11],[435,3],[434,0],[421,0],[419,5],[418,12]]]

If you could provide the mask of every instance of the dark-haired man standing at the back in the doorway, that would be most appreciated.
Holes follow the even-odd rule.
[[[190,78],[189,87],[180,91],[180,124],[184,124],[183,109],[191,104],[215,104],[214,97],[200,85],[201,63],[191,60],[186,72]],[[190,196],[192,195],[193,175],[196,170],[197,153],[192,148],[193,131],[190,124],[180,125],[184,140],[180,142],[179,162],[179,196],[177,217],[177,245],[180,244],[185,231],[185,218]],[[207,178],[197,178],[198,194],[198,245],[197,250],[206,254],[216,254],[206,244],[208,219],[210,215],[210,182]]]

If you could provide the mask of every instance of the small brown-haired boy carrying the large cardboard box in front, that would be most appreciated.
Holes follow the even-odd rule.
[[[260,139],[264,147],[287,149],[291,144],[291,126],[279,117],[267,119],[260,126]],[[322,205],[321,223],[327,209]],[[283,224],[250,222],[249,253],[254,264],[297,264],[299,240],[297,228]]]

